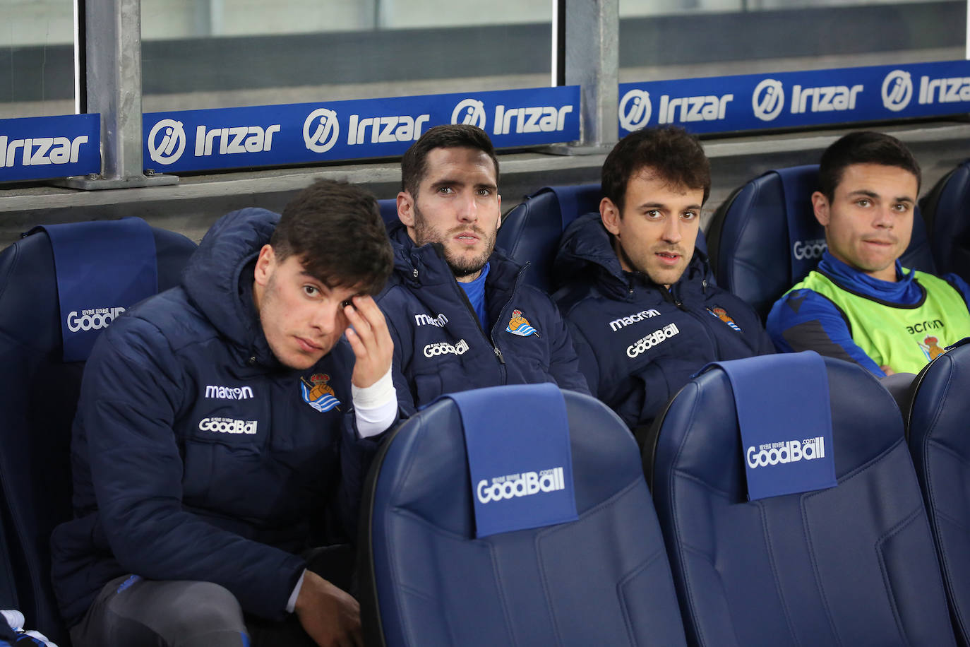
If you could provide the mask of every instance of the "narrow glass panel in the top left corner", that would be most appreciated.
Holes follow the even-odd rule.
[[[0,0],[0,118],[73,114],[74,1]]]

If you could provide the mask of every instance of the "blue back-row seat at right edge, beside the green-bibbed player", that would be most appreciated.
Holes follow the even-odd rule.
[[[936,269],[970,281],[970,159],[920,201]]]

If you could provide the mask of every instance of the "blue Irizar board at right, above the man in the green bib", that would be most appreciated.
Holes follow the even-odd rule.
[[[621,83],[619,135],[677,124],[695,133],[970,112],[970,61]]]

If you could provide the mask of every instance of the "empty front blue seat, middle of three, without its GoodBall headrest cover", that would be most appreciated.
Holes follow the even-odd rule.
[[[899,409],[857,365],[824,358],[824,373],[838,480],[829,489],[748,501],[720,367],[689,382],[655,423],[644,469],[690,644],[955,644]],[[786,371],[759,377],[803,395]],[[756,410],[790,431],[799,412],[770,404]]]

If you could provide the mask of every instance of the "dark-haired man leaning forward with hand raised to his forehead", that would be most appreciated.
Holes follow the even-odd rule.
[[[373,196],[320,181],[223,216],[101,335],[51,541],[76,647],[363,644],[352,551],[313,548],[353,536],[397,417],[391,265]]]

